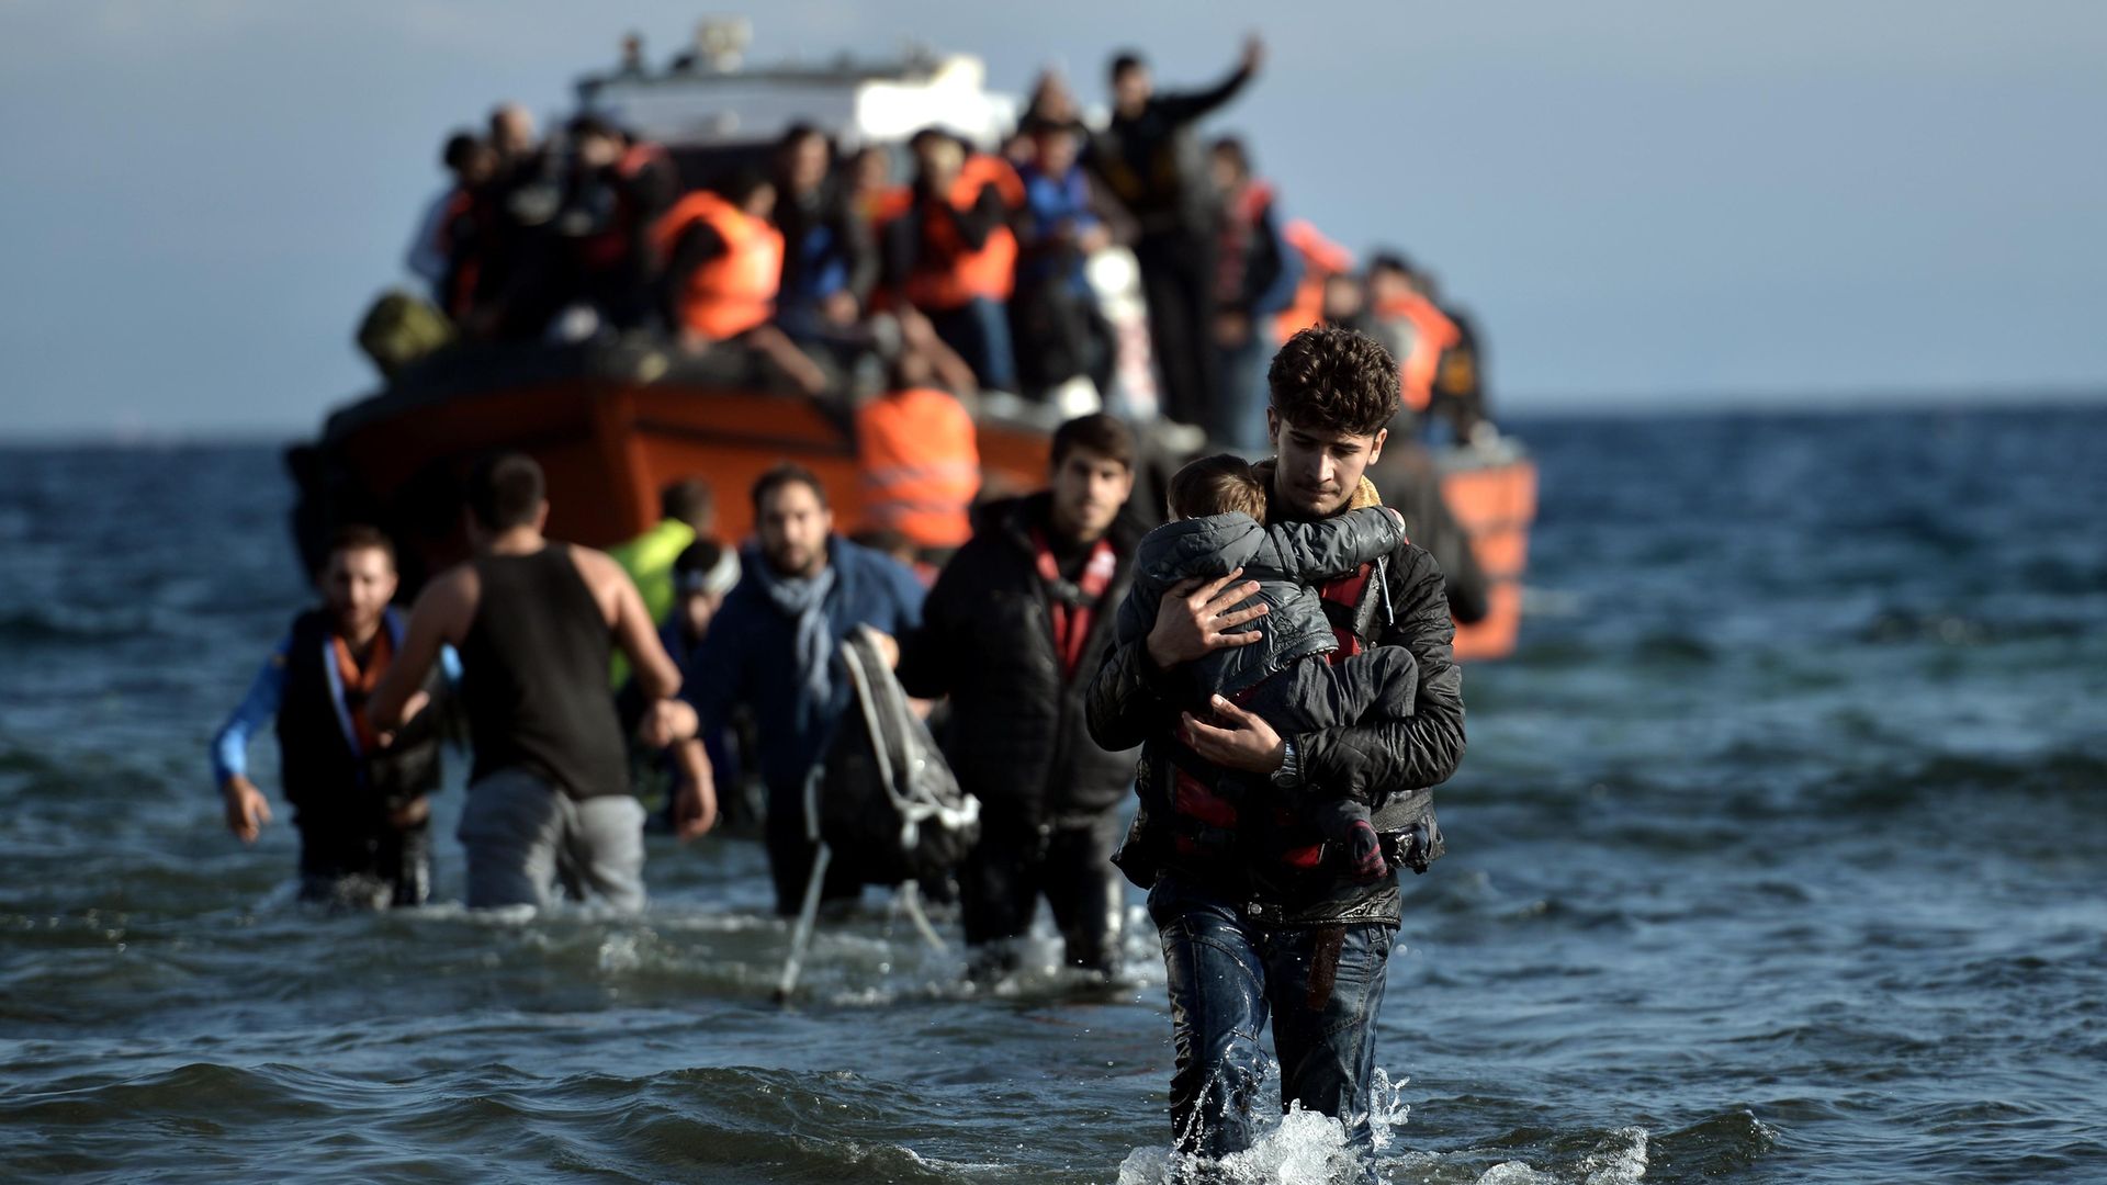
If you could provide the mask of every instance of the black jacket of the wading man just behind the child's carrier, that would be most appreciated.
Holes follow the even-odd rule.
[[[1112,645],[1138,536],[1125,521],[1106,533],[1119,567],[1094,605],[1075,677],[1062,679],[1049,590],[1032,546],[1032,527],[1047,529],[1049,504],[1049,496],[1035,493],[986,506],[980,529],[929,590],[923,628],[900,647],[900,685],[908,694],[950,696],[944,755],[990,824],[1081,822],[1117,808],[1134,782],[1138,740],[1112,753],[1100,749],[1083,696]]]

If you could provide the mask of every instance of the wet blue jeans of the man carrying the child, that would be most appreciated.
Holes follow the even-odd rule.
[[[1258,1031],[1271,1012],[1281,1107],[1302,1103],[1342,1120],[1348,1147],[1367,1160],[1376,1012],[1397,932],[1380,921],[1254,926],[1239,917],[1239,902],[1176,873],[1148,892],[1148,915],[1163,932],[1171,995],[1178,1151],[1222,1158],[1252,1147],[1264,1073]]]

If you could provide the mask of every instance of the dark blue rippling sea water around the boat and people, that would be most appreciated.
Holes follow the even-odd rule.
[[[1407,877],[1384,1170],[2107,1181],[2107,411],[1517,428],[1530,616]],[[297,909],[204,755],[303,599],[287,504],[272,449],[0,451],[0,1179],[1161,1177],[1148,932],[1129,989],[976,995],[872,898],[782,1010],[737,841],[653,839],[643,919]]]

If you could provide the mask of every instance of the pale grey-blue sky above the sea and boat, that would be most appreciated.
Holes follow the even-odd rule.
[[[727,4],[702,8],[725,11]],[[695,4],[0,0],[0,434],[312,430],[373,386],[447,129],[554,116]],[[1091,101],[1271,48],[1220,122],[1289,213],[1433,266],[1509,407],[2107,390],[2107,6],[771,0]]]

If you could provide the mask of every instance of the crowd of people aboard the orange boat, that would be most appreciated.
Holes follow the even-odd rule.
[[[445,145],[451,186],[409,251],[468,339],[666,333],[735,382],[864,394],[900,365],[971,390],[1056,401],[1142,373],[1161,413],[1264,447],[1264,361],[1308,325],[1351,325],[1403,367],[1403,399],[1469,439],[1483,424],[1471,318],[1395,251],[1357,268],[1281,213],[1249,148],[1197,124],[1262,65],[1203,91],[1157,91],[1121,53],[1100,127],[1058,74],[982,152],[942,127],[853,152],[799,122],[765,156],[693,154],[596,114],[539,139],[501,105]],[[895,177],[895,169],[904,177]],[[702,188],[687,190],[691,181]],[[1089,261],[1131,251],[1146,333],[1121,333]]]

